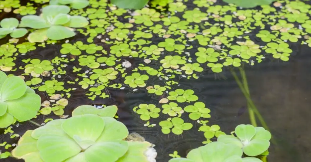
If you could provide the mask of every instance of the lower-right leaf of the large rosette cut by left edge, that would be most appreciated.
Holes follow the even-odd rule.
[[[26,121],[34,118],[40,109],[41,98],[38,94],[27,93],[21,98],[7,100],[7,112],[17,120]]]

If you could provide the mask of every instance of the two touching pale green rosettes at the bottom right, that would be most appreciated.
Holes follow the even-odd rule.
[[[173,158],[169,162],[261,162],[255,156],[270,146],[271,134],[262,127],[238,125],[233,135],[219,135],[217,142],[191,150],[187,158]],[[242,158],[243,153],[249,157]]]

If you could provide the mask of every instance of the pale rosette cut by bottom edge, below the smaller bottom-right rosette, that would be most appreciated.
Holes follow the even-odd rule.
[[[169,162],[261,162],[254,157],[242,158],[243,151],[233,144],[211,142],[191,150],[187,158],[173,158]]]

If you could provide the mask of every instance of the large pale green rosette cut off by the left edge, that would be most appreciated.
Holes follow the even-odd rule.
[[[40,109],[41,98],[17,76],[7,77],[0,71],[0,128],[14,121],[34,118]]]

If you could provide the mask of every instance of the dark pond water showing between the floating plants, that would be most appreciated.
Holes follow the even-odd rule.
[[[24,2],[23,2],[24,3]],[[0,14],[2,15],[2,14]],[[2,15],[1,18],[9,15]],[[83,39],[82,35],[75,37],[72,42]],[[63,42],[62,42],[63,43]],[[99,40],[95,40],[96,44],[109,49],[109,45],[105,45]],[[157,40],[153,42],[157,44]],[[245,65],[244,69],[248,79],[250,95],[263,116],[275,142],[270,147],[270,162],[308,162],[311,159],[311,129],[310,129],[310,107],[311,105],[311,52],[306,45],[291,44],[290,48],[293,53],[288,62],[281,60],[264,60],[262,63],[254,66]],[[59,56],[61,43],[49,45],[46,48],[37,47],[36,50],[27,53],[27,56],[18,56],[18,59],[39,58],[52,59]],[[168,54],[168,53],[165,53]],[[132,65],[138,65],[140,62],[132,60]],[[22,63],[16,63],[19,67]],[[68,69],[77,64],[69,64]],[[132,70],[132,69],[130,69]],[[234,69],[239,74],[238,69]],[[20,75],[22,72],[10,72]],[[67,73],[69,77],[76,74]],[[179,85],[183,89],[192,89],[199,97],[199,101],[206,104],[211,109],[211,118],[208,125],[219,125],[221,130],[229,134],[239,124],[249,124],[249,116],[246,99],[237,85],[234,77],[229,70],[224,70],[220,74],[211,71],[201,73],[199,79],[181,78]],[[69,78],[68,77],[68,78]],[[64,81],[67,81],[67,79]],[[121,81],[116,81],[121,82]],[[157,77],[151,78],[148,82],[157,84],[161,81]],[[179,85],[173,87],[177,89]],[[66,89],[66,87],[65,87]],[[158,152],[157,161],[167,162],[171,157],[169,153],[178,151],[179,155],[185,156],[189,150],[202,146],[202,141],[206,139],[202,132],[197,129],[200,126],[196,121],[191,122],[194,127],[190,131],[185,131],[182,135],[169,134],[165,135],[161,132],[159,126],[144,127],[144,121],[133,112],[132,108],[140,103],[158,103],[159,97],[155,98],[148,94],[145,89],[132,92],[130,90],[109,89],[110,98],[99,99],[94,101],[87,99],[84,95],[86,90],[77,87],[72,91],[72,97],[68,99],[69,104],[65,108],[65,114],[71,114],[72,110],[80,105],[105,104],[117,105],[119,121],[123,122],[130,132],[137,132],[147,141],[154,143]],[[40,94],[42,100],[46,100],[46,96]],[[244,111],[241,111],[244,110]],[[44,119],[58,119],[56,115],[38,116],[33,119],[37,123],[43,123]],[[151,123],[158,123],[165,120],[167,116],[150,120]],[[23,134],[26,130],[35,129],[37,126],[24,122],[17,128],[13,125],[13,129],[17,134]],[[0,130],[0,143],[7,141],[8,143],[16,143],[17,139],[10,139],[8,135],[3,134]],[[5,150],[2,147],[2,152]],[[23,160],[15,160],[13,158],[2,159],[3,162],[17,162]]]

